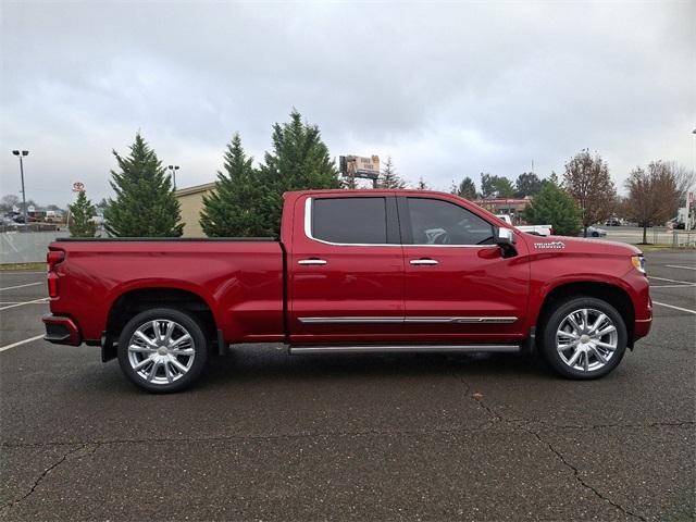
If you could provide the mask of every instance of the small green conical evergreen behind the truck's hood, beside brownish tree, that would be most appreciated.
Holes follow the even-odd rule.
[[[554,183],[545,183],[539,194],[524,209],[524,220],[532,225],[551,225],[560,236],[576,236],[582,228],[575,200]]]

